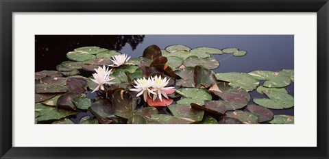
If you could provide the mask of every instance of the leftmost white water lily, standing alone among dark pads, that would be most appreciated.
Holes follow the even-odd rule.
[[[93,82],[95,82],[96,84],[98,84],[98,86],[95,88],[95,90],[93,90],[94,93],[97,90],[105,90],[104,88],[104,84],[114,84],[113,82],[110,82],[110,80],[114,79],[114,78],[110,78],[110,73],[112,71],[112,69],[108,70],[108,68],[106,68],[106,66],[100,67],[98,66],[98,69],[95,69],[96,73],[93,74],[93,77],[95,79],[91,79]]]

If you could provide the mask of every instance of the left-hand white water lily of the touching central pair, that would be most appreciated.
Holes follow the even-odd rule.
[[[147,101],[147,95],[149,95],[149,97],[151,97],[150,93],[152,93],[154,95],[156,94],[150,89],[150,87],[153,85],[153,81],[150,78],[145,79],[145,77],[143,77],[143,79],[140,78],[140,79],[137,79],[137,81],[135,80],[134,82],[135,82],[136,86],[134,86],[135,88],[131,88],[130,90],[139,92],[136,95],[136,97],[143,94],[144,101]]]

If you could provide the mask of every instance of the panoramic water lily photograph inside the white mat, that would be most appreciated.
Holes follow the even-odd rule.
[[[293,90],[293,35],[35,35],[35,124],[293,124]]]

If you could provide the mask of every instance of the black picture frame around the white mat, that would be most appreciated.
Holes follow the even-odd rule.
[[[0,10],[1,158],[329,158],[328,0],[0,0]],[[317,12],[317,147],[12,147],[13,12]]]

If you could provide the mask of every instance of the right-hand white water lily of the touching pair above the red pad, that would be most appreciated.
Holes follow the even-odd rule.
[[[162,79],[161,75],[159,75],[159,77],[158,76],[152,77],[152,81],[153,81],[152,90],[156,93],[153,96],[153,100],[155,100],[156,97],[159,97],[160,101],[162,101],[162,95],[163,97],[169,99],[167,93],[165,92],[170,91],[174,88],[173,86],[165,87],[167,86],[167,84],[169,84],[169,79],[167,79],[167,77],[164,77]]]

